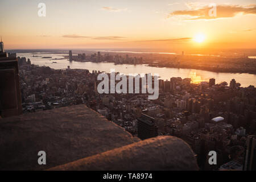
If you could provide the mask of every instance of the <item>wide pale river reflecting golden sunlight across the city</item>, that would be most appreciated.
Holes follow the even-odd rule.
[[[32,53],[17,53],[17,56],[26,57],[31,60],[32,64],[46,65],[54,69],[65,69],[70,66],[71,69],[88,69],[90,72],[93,70],[110,72],[110,69],[115,69],[115,72],[120,72],[128,75],[129,73],[158,73],[163,80],[170,80],[171,77],[191,78],[192,82],[199,83],[201,81],[209,81],[209,78],[215,78],[216,83],[226,81],[230,82],[232,78],[240,82],[241,86],[256,86],[256,75],[248,73],[216,73],[209,71],[201,71],[196,69],[179,69],[179,68],[156,68],[148,67],[147,65],[131,65],[131,64],[118,64],[114,63],[93,63],[93,62],[77,62],[68,61],[67,59],[55,60],[63,58],[61,54],[36,54],[33,57]],[[52,58],[42,58],[43,56]],[[52,63],[56,62],[56,63]]]

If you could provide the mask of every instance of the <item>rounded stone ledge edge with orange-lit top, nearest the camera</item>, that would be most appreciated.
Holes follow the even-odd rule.
[[[156,137],[79,159],[49,170],[198,170],[183,140]]]

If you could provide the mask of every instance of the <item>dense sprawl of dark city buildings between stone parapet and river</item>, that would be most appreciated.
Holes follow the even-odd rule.
[[[90,59],[100,57],[99,52]],[[83,59],[85,54],[69,53],[70,61]],[[117,64],[142,60],[113,59]],[[18,57],[18,64],[23,113],[84,104],[141,139],[158,135],[184,139],[201,169],[242,169],[246,141],[256,134],[256,89],[252,85],[242,88],[234,79],[220,84],[214,78],[200,84],[193,84],[191,78],[159,80],[158,99],[148,100],[148,94],[141,92],[99,94],[100,71],[39,67],[25,57]],[[212,150],[218,155],[214,166],[208,163]]]

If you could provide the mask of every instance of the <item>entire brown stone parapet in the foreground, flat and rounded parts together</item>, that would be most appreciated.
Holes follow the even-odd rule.
[[[2,118],[0,146],[0,170],[197,169],[183,140],[141,141],[85,105]]]

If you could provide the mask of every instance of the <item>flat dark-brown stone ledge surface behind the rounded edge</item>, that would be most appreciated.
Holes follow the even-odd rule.
[[[85,105],[0,119],[0,170],[41,170],[140,141]],[[38,152],[46,151],[46,165]]]

